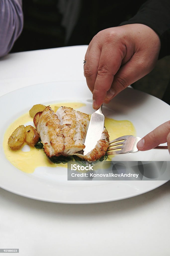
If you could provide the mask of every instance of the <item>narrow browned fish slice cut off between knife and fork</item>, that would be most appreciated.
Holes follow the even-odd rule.
[[[98,140],[96,146],[86,155],[82,154],[73,154],[81,157],[85,161],[96,161],[97,159],[100,159],[102,156],[106,154],[107,148],[109,146],[109,134],[106,128],[104,127],[104,130],[102,132],[100,140]]]

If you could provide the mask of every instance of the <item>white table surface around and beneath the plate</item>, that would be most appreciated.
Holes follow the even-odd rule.
[[[9,54],[0,60],[0,95],[36,83],[85,81],[86,49]],[[19,248],[22,256],[169,256],[169,216],[170,182],[133,198],[87,205],[43,202],[0,188],[0,248]]]

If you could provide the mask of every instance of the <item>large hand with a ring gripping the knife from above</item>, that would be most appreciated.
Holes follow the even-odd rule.
[[[84,75],[93,93],[93,108],[148,74],[155,66],[160,39],[148,26],[128,24],[100,31],[85,54]]]

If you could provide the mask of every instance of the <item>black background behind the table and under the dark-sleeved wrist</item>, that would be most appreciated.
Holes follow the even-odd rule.
[[[82,0],[77,24],[66,43],[66,30],[61,26],[58,1],[23,0],[24,27],[11,52],[88,45],[100,30],[117,26],[133,17],[144,2]],[[170,92],[165,93],[170,78],[169,63],[169,56],[159,60],[154,70],[135,82],[133,87],[170,103]]]

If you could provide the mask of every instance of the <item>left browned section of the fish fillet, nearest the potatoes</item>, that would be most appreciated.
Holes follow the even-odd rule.
[[[61,155],[64,150],[64,137],[58,116],[47,106],[37,122],[37,133],[41,137],[47,156]]]

